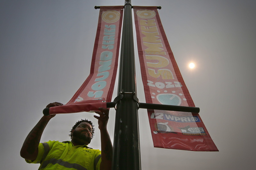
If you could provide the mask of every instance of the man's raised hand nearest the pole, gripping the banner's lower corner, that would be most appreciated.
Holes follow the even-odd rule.
[[[100,130],[107,129],[109,110],[103,107],[99,107],[99,111],[95,111],[95,113],[100,115],[100,116],[94,115],[94,117],[98,119],[99,129]]]

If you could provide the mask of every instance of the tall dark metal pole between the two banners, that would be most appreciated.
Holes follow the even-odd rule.
[[[121,42],[118,94],[122,100],[116,104],[116,124],[112,169],[140,170],[140,139],[138,103],[132,30],[132,5],[126,0]],[[122,94],[120,94],[121,92]]]

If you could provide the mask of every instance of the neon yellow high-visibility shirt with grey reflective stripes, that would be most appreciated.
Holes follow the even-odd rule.
[[[36,160],[25,160],[40,163],[39,170],[100,170],[101,151],[70,141],[48,141],[39,144]]]

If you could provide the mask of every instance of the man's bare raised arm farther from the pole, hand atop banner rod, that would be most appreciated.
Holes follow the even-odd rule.
[[[61,106],[62,103],[54,102],[48,104],[46,107],[54,107],[54,106]],[[55,115],[43,116],[36,126],[29,132],[28,136],[26,137],[21,150],[20,156],[24,159],[28,160],[35,160],[38,154],[38,145],[40,143],[40,139],[42,137],[44,128],[51,120],[52,117]]]

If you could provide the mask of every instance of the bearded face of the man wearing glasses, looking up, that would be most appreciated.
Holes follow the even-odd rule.
[[[72,139],[83,140],[85,144],[90,144],[92,140],[92,126],[88,122],[80,123],[72,132]]]

